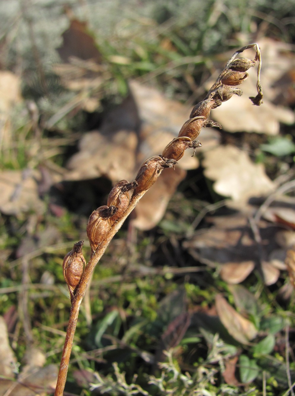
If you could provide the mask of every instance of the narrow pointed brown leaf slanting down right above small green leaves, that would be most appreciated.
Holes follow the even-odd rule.
[[[256,337],[257,330],[253,323],[236,312],[221,294],[216,295],[215,303],[221,323],[236,341],[248,344]]]

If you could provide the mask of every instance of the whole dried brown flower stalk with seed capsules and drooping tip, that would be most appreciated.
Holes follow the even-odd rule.
[[[246,49],[255,49],[255,58],[235,57]],[[257,67],[257,95],[250,97],[254,105],[262,103],[263,93],[260,84],[261,55],[258,44],[249,44],[236,51],[219,74],[214,85],[210,88],[207,96],[193,108],[189,120],[180,129],[176,139],[164,148],[162,155],[148,158],[140,167],[135,180],[128,183],[126,180],[119,181],[108,196],[107,205],[100,206],[89,217],[87,224],[87,236],[91,246],[91,257],[85,265],[82,254],[83,242],[74,244],[73,249],[65,256],[63,263],[64,278],[70,291],[71,311],[66,332],[66,339],[62,351],[61,366],[55,389],[55,396],[62,396],[66,383],[68,365],[76,324],[78,320],[79,307],[85,295],[91,274],[104,254],[106,247],[116,232],[121,228],[125,219],[138,204],[140,198],[157,181],[164,168],[174,168],[187,148],[195,150],[201,146],[196,141],[202,127],[217,127],[221,125],[208,120],[210,111],[219,107],[223,102],[231,99],[233,95],[242,95],[242,91],[236,88],[247,78],[247,71]],[[129,199],[129,191],[133,190]]]

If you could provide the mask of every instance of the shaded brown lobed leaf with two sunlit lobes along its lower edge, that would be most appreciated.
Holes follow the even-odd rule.
[[[183,242],[183,247],[195,259],[204,264],[221,264],[220,276],[229,284],[242,282],[255,265],[260,268],[261,252],[253,239],[246,215],[214,216],[208,217],[207,221],[214,226],[196,231],[194,236]],[[276,242],[280,228],[274,228],[262,220],[258,226],[263,257],[268,257],[268,263],[262,261],[260,270],[266,284],[272,284],[278,279],[280,270],[286,268],[283,263],[286,249],[279,249]]]

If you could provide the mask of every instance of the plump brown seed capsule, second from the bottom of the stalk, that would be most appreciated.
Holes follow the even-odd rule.
[[[111,209],[110,209],[111,208]],[[91,250],[95,251],[98,245],[104,240],[106,234],[110,231],[111,221],[110,217],[115,214],[114,206],[108,207],[106,205],[100,206],[94,210],[87,224],[87,236],[90,242]]]

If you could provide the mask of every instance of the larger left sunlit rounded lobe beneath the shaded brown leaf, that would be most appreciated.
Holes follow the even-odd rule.
[[[255,267],[253,261],[223,264],[220,270],[221,278],[228,283],[237,284],[243,282],[251,274]]]

